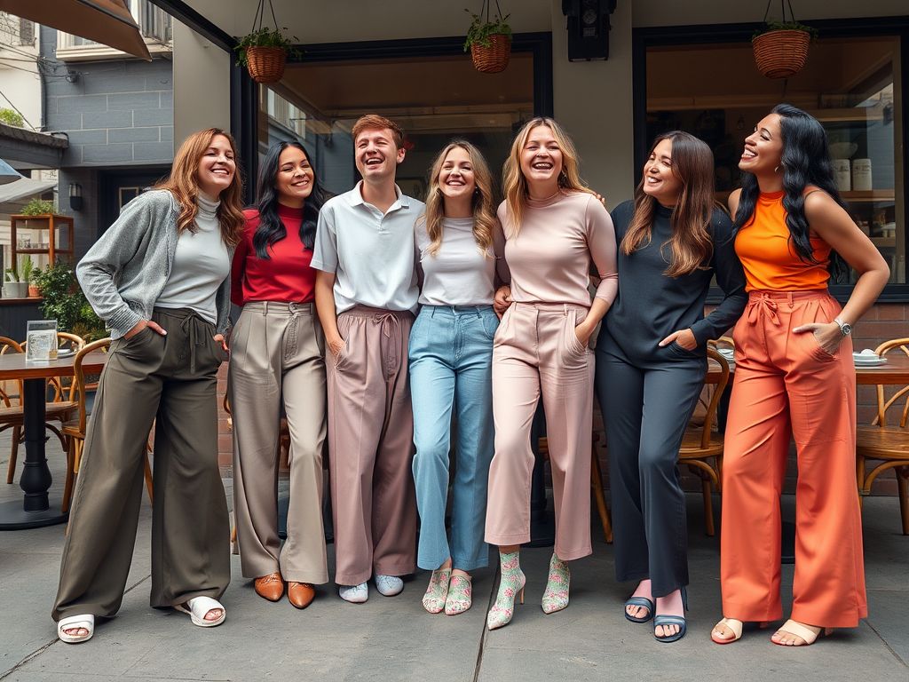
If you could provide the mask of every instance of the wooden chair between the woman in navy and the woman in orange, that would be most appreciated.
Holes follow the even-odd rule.
[[[710,484],[716,486],[717,491],[722,490],[723,480],[723,435],[714,431],[716,423],[716,407],[720,403],[726,384],[729,383],[729,364],[716,350],[708,346],[707,357],[714,359],[720,365],[720,380],[707,403],[703,426],[689,426],[682,438],[682,448],[679,451],[679,464],[686,464],[701,476],[704,491],[704,516],[706,517],[707,535],[714,536],[714,504],[711,498]],[[713,460],[711,465],[709,460]]]

